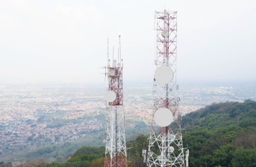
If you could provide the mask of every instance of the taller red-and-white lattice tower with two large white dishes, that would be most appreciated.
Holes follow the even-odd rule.
[[[184,148],[176,85],[177,11],[155,11],[156,70],[147,166],[184,166]],[[175,122],[175,126],[170,126]],[[160,128],[159,128],[160,127]]]

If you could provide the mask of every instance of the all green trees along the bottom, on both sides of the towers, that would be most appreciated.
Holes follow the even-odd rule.
[[[206,106],[182,117],[182,127],[184,147],[190,150],[190,166],[256,166],[256,102]],[[141,150],[147,150],[147,136],[138,134],[133,138],[127,142],[129,166],[144,166]],[[104,147],[82,147],[66,162],[41,160],[32,166],[99,167],[104,164],[104,154]]]

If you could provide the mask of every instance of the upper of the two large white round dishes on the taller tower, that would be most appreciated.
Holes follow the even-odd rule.
[[[172,81],[174,77],[174,72],[172,69],[166,65],[158,67],[155,69],[155,80],[162,84],[167,84]]]

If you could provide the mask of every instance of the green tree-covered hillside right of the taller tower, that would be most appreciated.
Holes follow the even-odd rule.
[[[256,166],[256,102],[212,104],[182,118],[190,166]]]

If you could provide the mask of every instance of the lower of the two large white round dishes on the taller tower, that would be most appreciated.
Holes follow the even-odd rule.
[[[172,123],[174,118],[172,112],[168,108],[158,108],[155,112],[154,119],[155,124],[161,127],[166,127]]]

